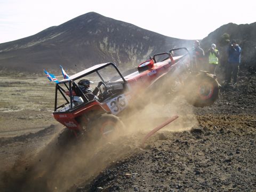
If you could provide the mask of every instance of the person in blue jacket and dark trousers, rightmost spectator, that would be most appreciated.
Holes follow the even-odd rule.
[[[231,83],[231,76],[233,76],[233,85],[237,83],[237,75],[239,64],[241,63],[241,47],[233,40],[228,47],[228,66],[227,66],[227,83]]]

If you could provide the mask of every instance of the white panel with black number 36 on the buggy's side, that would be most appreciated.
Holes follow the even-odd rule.
[[[111,113],[114,115],[122,111],[127,106],[127,104],[128,101],[124,94],[118,95],[116,98],[111,99],[109,102],[107,102],[107,105],[111,110]]]

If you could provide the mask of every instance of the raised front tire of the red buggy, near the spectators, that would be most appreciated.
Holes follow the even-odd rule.
[[[185,98],[195,107],[211,106],[219,98],[220,85],[213,74],[201,71],[189,76],[185,83]]]

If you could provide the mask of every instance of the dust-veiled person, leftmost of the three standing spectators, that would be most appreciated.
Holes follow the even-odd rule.
[[[200,47],[199,41],[194,42],[194,50],[193,50],[193,67],[195,70],[201,70],[204,68],[203,66],[204,59],[204,50]]]

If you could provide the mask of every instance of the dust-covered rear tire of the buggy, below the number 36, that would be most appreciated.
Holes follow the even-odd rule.
[[[116,116],[103,114],[88,123],[89,137],[93,140],[113,139],[124,132],[123,122]]]

